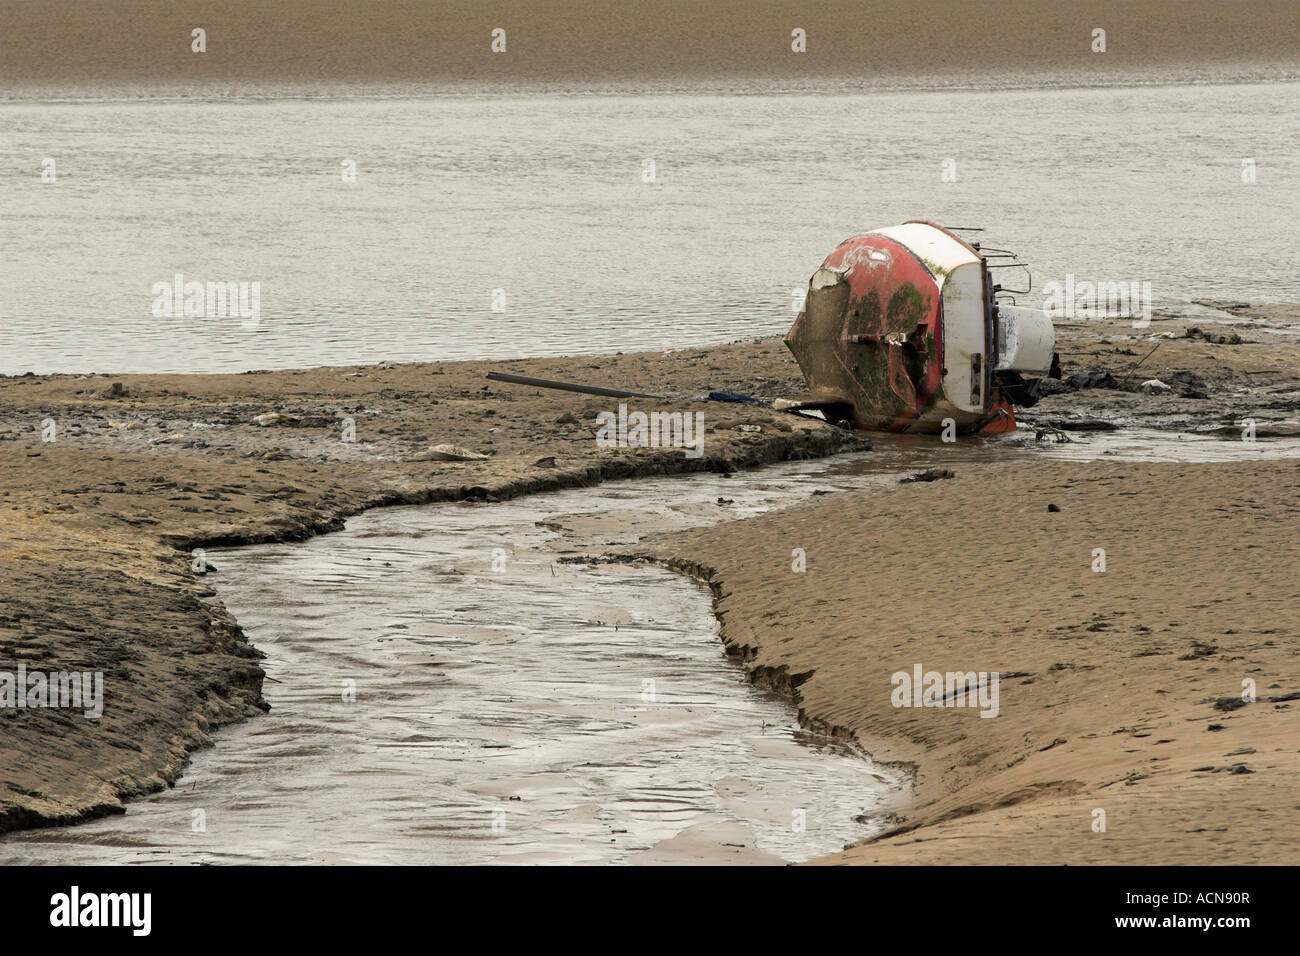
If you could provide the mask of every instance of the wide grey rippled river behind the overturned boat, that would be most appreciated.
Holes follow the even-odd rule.
[[[1297,300],[1297,99],[1300,83],[10,100],[0,371],[729,342],[784,332],[792,289],[840,239],[906,219],[987,226],[1039,285]],[[177,272],[260,282],[259,328],[153,316]]]

